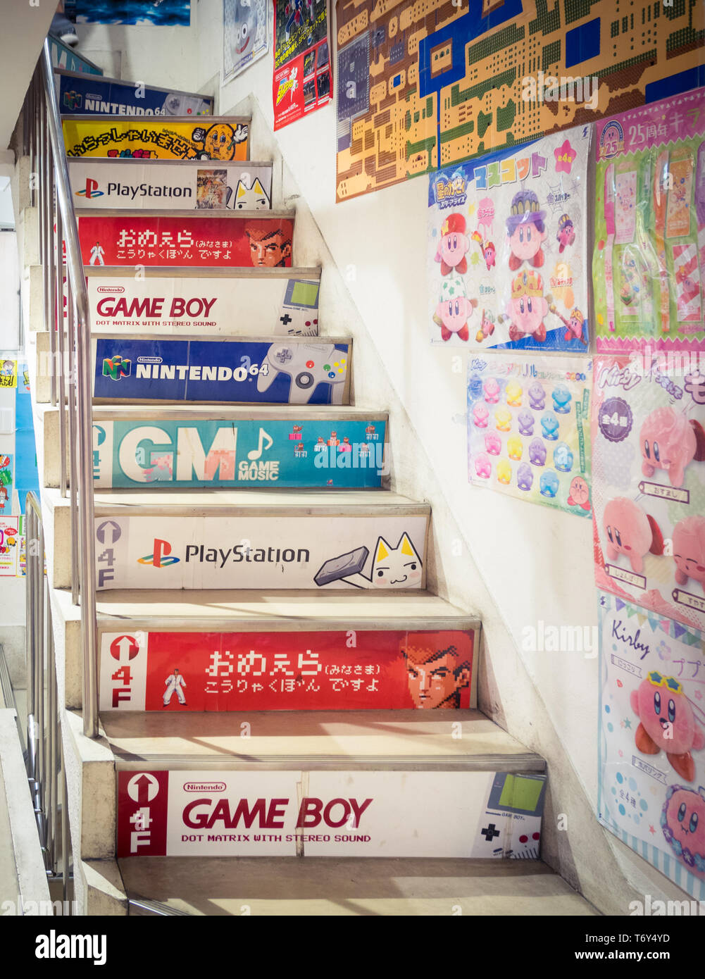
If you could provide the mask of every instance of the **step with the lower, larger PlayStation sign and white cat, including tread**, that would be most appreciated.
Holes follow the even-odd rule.
[[[52,583],[70,587],[70,502],[43,501]],[[97,489],[96,585],[421,589],[429,519],[388,491]]]

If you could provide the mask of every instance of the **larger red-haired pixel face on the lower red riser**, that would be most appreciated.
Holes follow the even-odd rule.
[[[408,634],[402,653],[415,707],[435,710],[460,706],[460,691],[470,685],[472,678],[470,640],[465,640],[466,647],[464,639],[454,635],[453,641],[446,644],[443,633]]]

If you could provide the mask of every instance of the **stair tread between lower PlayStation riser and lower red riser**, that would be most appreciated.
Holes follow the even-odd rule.
[[[98,625],[115,628],[130,620],[150,629],[225,630],[246,624],[258,629],[478,629],[477,613],[466,612],[428,591],[100,591]],[[122,626],[119,626],[122,628]]]

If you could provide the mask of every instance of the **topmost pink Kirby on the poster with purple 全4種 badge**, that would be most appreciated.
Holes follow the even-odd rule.
[[[699,422],[672,407],[656,408],[644,419],[639,433],[641,472],[653,476],[664,469],[672,487],[682,486],[683,470],[691,459],[705,459],[705,431]]]

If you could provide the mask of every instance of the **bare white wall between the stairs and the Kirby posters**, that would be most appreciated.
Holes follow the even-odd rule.
[[[193,2],[191,28],[173,28],[190,31],[178,70],[150,48],[159,28],[113,29],[101,44],[115,36],[123,76],[215,94],[223,115],[252,111],[252,158],[283,158],[274,204],[297,208],[295,260],[323,264],[322,328],[354,337],[355,402],[391,410],[395,489],[432,503],[430,586],[483,617],[482,706],[548,761],[544,857],[610,913],[627,913],[635,890],[678,897],[594,818],[596,658],[520,648],[522,629],[540,620],[596,625],[591,525],[468,485],[464,356],[432,349],[426,321],[426,178],[336,205],[334,104],[275,138],[271,52],[220,87],[222,0]],[[557,831],[561,813],[568,832]]]

